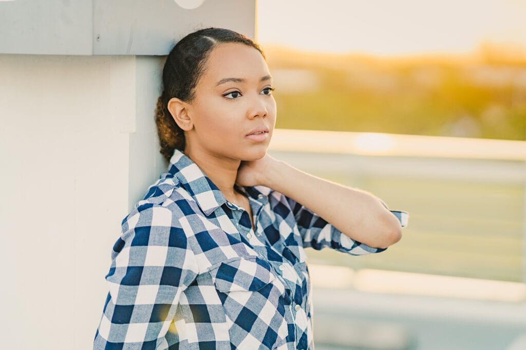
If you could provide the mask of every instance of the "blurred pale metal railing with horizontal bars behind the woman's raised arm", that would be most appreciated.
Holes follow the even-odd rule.
[[[511,350],[522,339],[525,141],[276,129],[269,153],[410,214],[385,252],[307,250],[320,348],[420,350],[434,337]],[[330,332],[346,327],[363,332]],[[462,345],[466,332],[478,343]]]

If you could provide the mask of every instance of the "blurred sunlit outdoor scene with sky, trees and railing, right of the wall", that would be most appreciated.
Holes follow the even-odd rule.
[[[318,349],[526,349],[526,2],[257,2],[269,153],[409,212],[308,249]]]

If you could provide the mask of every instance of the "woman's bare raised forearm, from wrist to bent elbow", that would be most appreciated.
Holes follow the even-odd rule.
[[[354,240],[386,248],[401,238],[400,221],[370,193],[307,174],[277,160],[265,173],[265,186],[306,206]]]

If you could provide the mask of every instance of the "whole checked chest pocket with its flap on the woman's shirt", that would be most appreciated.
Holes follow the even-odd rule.
[[[285,344],[285,286],[270,263],[257,256],[236,257],[210,271],[236,348],[273,349]]]

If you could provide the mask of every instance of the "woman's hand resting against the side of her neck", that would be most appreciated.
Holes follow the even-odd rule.
[[[255,161],[241,161],[237,170],[236,185],[268,187],[268,176],[280,161],[271,157],[268,153],[261,159]]]

